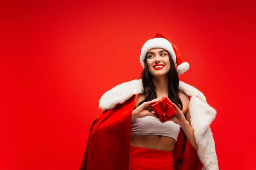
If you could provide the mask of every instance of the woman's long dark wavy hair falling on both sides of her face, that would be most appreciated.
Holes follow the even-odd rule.
[[[172,60],[171,54],[168,51],[167,51],[167,53],[168,53],[169,61],[171,64],[171,69],[167,74],[167,76],[168,76],[168,97],[172,102],[175,103],[175,105],[177,105],[180,108],[180,110],[182,110],[183,105],[178,96],[178,88],[179,88],[179,84],[180,84],[180,79],[175,70],[175,65]],[[147,54],[146,54],[146,56],[147,56]],[[143,83],[143,88],[144,88],[143,93],[146,96],[145,96],[145,99],[139,103],[139,105],[141,105],[143,102],[148,102],[148,101],[151,101],[151,100],[157,98],[156,86],[153,83],[152,74],[148,71],[147,57],[145,57],[145,59],[144,59],[144,64],[145,64],[145,68],[142,71],[142,73],[140,74],[140,77],[142,77],[142,83]]]

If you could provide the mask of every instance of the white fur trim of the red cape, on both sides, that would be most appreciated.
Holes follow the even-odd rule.
[[[218,170],[218,159],[215,151],[215,142],[209,125],[215,119],[216,111],[207,104],[204,94],[197,88],[180,81],[179,90],[191,96],[189,114],[191,126],[194,129],[195,140],[198,145],[198,157],[204,167],[202,170]],[[124,103],[134,94],[143,93],[142,80],[135,79],[124,82],[107,91],[99,100],[99,108],[112,109]]]

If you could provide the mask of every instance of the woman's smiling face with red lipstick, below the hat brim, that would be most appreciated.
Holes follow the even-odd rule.
[[[168,53],[163,48],[152,48],[147,54],[148,71],[155,77],[166,75],[170,69]]]

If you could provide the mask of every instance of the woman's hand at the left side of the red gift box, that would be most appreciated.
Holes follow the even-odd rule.
[[[158,119],[157,115],[154,112],[150,112],[150,105],[159,102],[161,99],[163,99],[163,96],[153,99],[148,102],[143,102],[141,105],[139,105],[136,109],[132,111],[132,119],[134,120],[136,118],[142,118],[145,116],[154,116],[155,118]]]

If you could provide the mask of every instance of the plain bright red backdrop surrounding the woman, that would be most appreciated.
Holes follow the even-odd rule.
[[[255,1],[2,1],[0,169],[78,170],[100,97],[157,32],[216,109],[219,167],[255,170]]]

